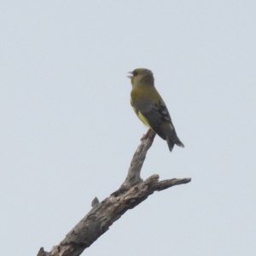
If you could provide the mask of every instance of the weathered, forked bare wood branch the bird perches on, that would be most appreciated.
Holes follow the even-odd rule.
[[[191,178],[172,178],[159,181],[157,174],[143,181],[140,172],[148,148],[154,141],[154,136],[154,131],[150,131],[148,138],[138,146],[131,160],[128,175],[121,187],[102,202],[95,198],[91,203],[90,212],[79,221],[60,244],[53,247],[49,253],[41,247],[38,256],[79,256],[85,248],[90,247],[102,236],[114,221],[127,210],[137,207],[148,198],[148,195],[152,195],[154,191],[161,191],[191,181]]]

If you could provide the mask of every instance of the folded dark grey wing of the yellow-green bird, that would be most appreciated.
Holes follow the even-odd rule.
[[[135,108],[138,116],[141,113],[145,117],[148,121],[148,125],[163,139],[166,139],[166,134],[162,131],[161,127],[163,123],[168,123],[175,132],[170,113],[163,100],[159,100],[155,103],[131,101],[131,106]]]

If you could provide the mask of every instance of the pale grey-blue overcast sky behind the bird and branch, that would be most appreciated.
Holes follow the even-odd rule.
[[[185,148],[142,176],[192,177],[84,255],[256,255],[256,2],[0,3],[0,254],[49,251],[125,180],[147,128],[126,73],[153,71]]]

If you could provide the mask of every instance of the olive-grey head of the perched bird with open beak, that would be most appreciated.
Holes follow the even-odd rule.
[[[128,73],[131,73],[127,78],[131,79],[132,87],[137,87],[142,84],[154,85],[154,76],[152,71],[149,69],[137,68]]]

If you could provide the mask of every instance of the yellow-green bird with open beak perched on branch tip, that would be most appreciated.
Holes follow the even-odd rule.
[[[151,70],[137,68],[128,78],[131,79],[131,106],[137,117],[162,139],[166,140],[170,151],[174,144],[184,147],[177,137],[166,104],[154,87],[154,75]]]

